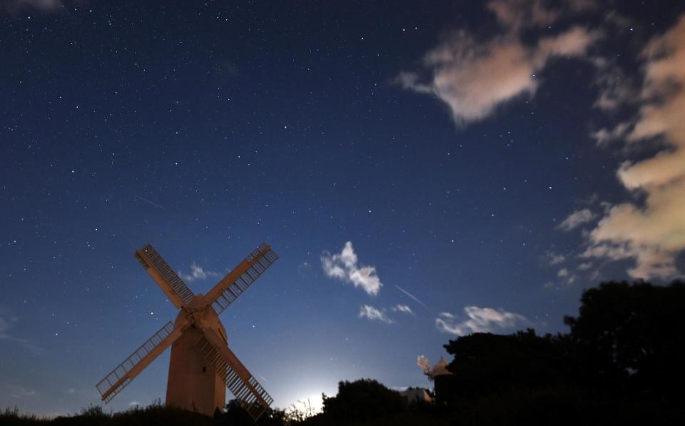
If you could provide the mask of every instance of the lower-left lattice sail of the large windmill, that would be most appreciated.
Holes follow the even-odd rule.
[[[174,328],[169,321],[157,333],[136,349],[126,360],[123,360],[112,372],[103,378],[96,387],[104,402],[109,402],[128,385],[145,367],[164,352],[174,340],[181,337],[183,330]]]

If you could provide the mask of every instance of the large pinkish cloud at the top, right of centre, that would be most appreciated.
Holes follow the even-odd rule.
[[[519,96],[532,96],[539,86],[536,74],[551,59],[583,57],[599,37],[597,32],[577,26],[523,44],[522,26],[549,24],[557,12],[544,9],[540,1],[490,1],[487,7],[504,27],[502,36],[477,41],[466,31],[457,31],[425,54],[422,71],[427,71],[429,78],[407,71],[395,78],[403,88],[432,93],[445,102],[457,125],[480,121]]]

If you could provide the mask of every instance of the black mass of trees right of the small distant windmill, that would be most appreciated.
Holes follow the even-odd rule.
[[[570,331],[450,340],[441,405],[462,424],[669,424],[685,379],[685,284],[602,283]],[[681,420],[680,420],[681,421]]]

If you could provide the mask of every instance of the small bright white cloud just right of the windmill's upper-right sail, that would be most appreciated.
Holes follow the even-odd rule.
[[[355,250],[352,248],[352,241],[347,241],[340,253],[331,255],[324,252],[321,255],[321,266],[329,278],[352,283],[372,296],[377,295],[383,285],[376,274],[375,267],[359,265]]]

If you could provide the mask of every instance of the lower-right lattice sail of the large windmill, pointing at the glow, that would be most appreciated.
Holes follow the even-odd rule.
[[[256,421],[268,410],[273,398],[213,330],[203,329],[203,336],[196,343],[196,348],[213,365],[226,387],[253,420]]]

